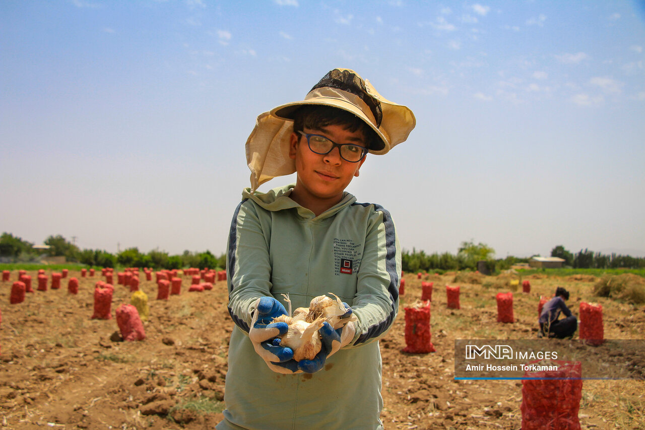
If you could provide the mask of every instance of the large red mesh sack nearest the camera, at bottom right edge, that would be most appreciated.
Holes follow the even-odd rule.
[[[557,371],[525,371],[527,378],[581,378],[580,362],[551,360],[531,362],[558,365]],[[581,379],[522,380],[522,430],[580,429],[578,411],[582,398]]]

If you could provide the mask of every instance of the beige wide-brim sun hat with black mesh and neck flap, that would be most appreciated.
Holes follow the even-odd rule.
[[[416,125],[410,108],[381,96],[370,81],[353,70],[335,68],[304,100],[280,105],[257,117],[255,128],[246,140],[252,192],[270,179],[295,172],[295,161],[289,157],[293,115],[305,105],[331,106],[362,119],[378,136],[368,149],[376,155],[386,154],[405,141]]]

